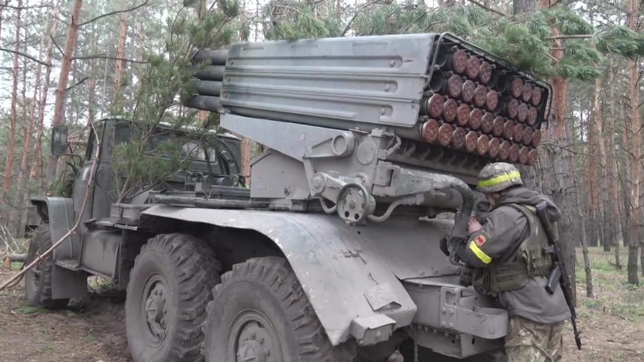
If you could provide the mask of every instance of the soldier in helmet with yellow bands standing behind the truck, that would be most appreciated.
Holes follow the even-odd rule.
[[[535,214],[535,205],[547,202],[553,222],[561,217],[547,196],[523,186],[511,164],[495,163],[478,175],[477,189],[486,195],[492,211],[484,225],[470,218],[471,236],[457,254],[471,271],[478,291],[495,296],[508,310],[510,321],[505,341],[509,362],[559,361],[565,319],[570,318],[560,286],[545,291],[553,267],[544,254],[548,240]]]

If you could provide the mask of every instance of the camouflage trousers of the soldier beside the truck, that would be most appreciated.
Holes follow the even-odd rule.
[[[558,362],[562,359],[564,322],[546,324],[514,316],[506,336],[507,362]]]

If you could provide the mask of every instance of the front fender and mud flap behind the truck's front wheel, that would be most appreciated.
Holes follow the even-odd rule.
[[[74,205],[71,198],[33,196],[33,205],[39,216],[49,223],[52,243],[61,240],[75,224]],[[81,252],[81,237],[72,233],[56,249],[53,249],[52,298],[82,298],[87,294],[87,274],[56,265],[57,260],[78,260]]]

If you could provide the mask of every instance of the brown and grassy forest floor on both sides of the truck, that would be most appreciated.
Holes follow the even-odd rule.
[[[563,361],[644,361],[644,286],[625,283],[625,267],[618,271],[612,265],[614,252],[591,248],[595,298],[587,298],[582,252],[577,252],[578,324],[583,331],[583,350],[574,346],[568,325]],[[621,263],[625,265],[626,260],[624,248]],[[10,269],[0,266],[0,280],[9,278],[18,268],[15,264]],[[0,361],[129,362],[123,307],[123,297],[109,291],[73,301],[67,310],[56,312],[27,307],[22,285],[0,292]]]

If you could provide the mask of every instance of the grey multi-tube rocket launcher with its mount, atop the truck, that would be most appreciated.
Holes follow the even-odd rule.
[[[185,105],[270,148],[251,197],[321,200],[346,222],[457,209],[489,162],[535,164],[549,113],[549,84],[450,33],[238,43],[193,60]]]

